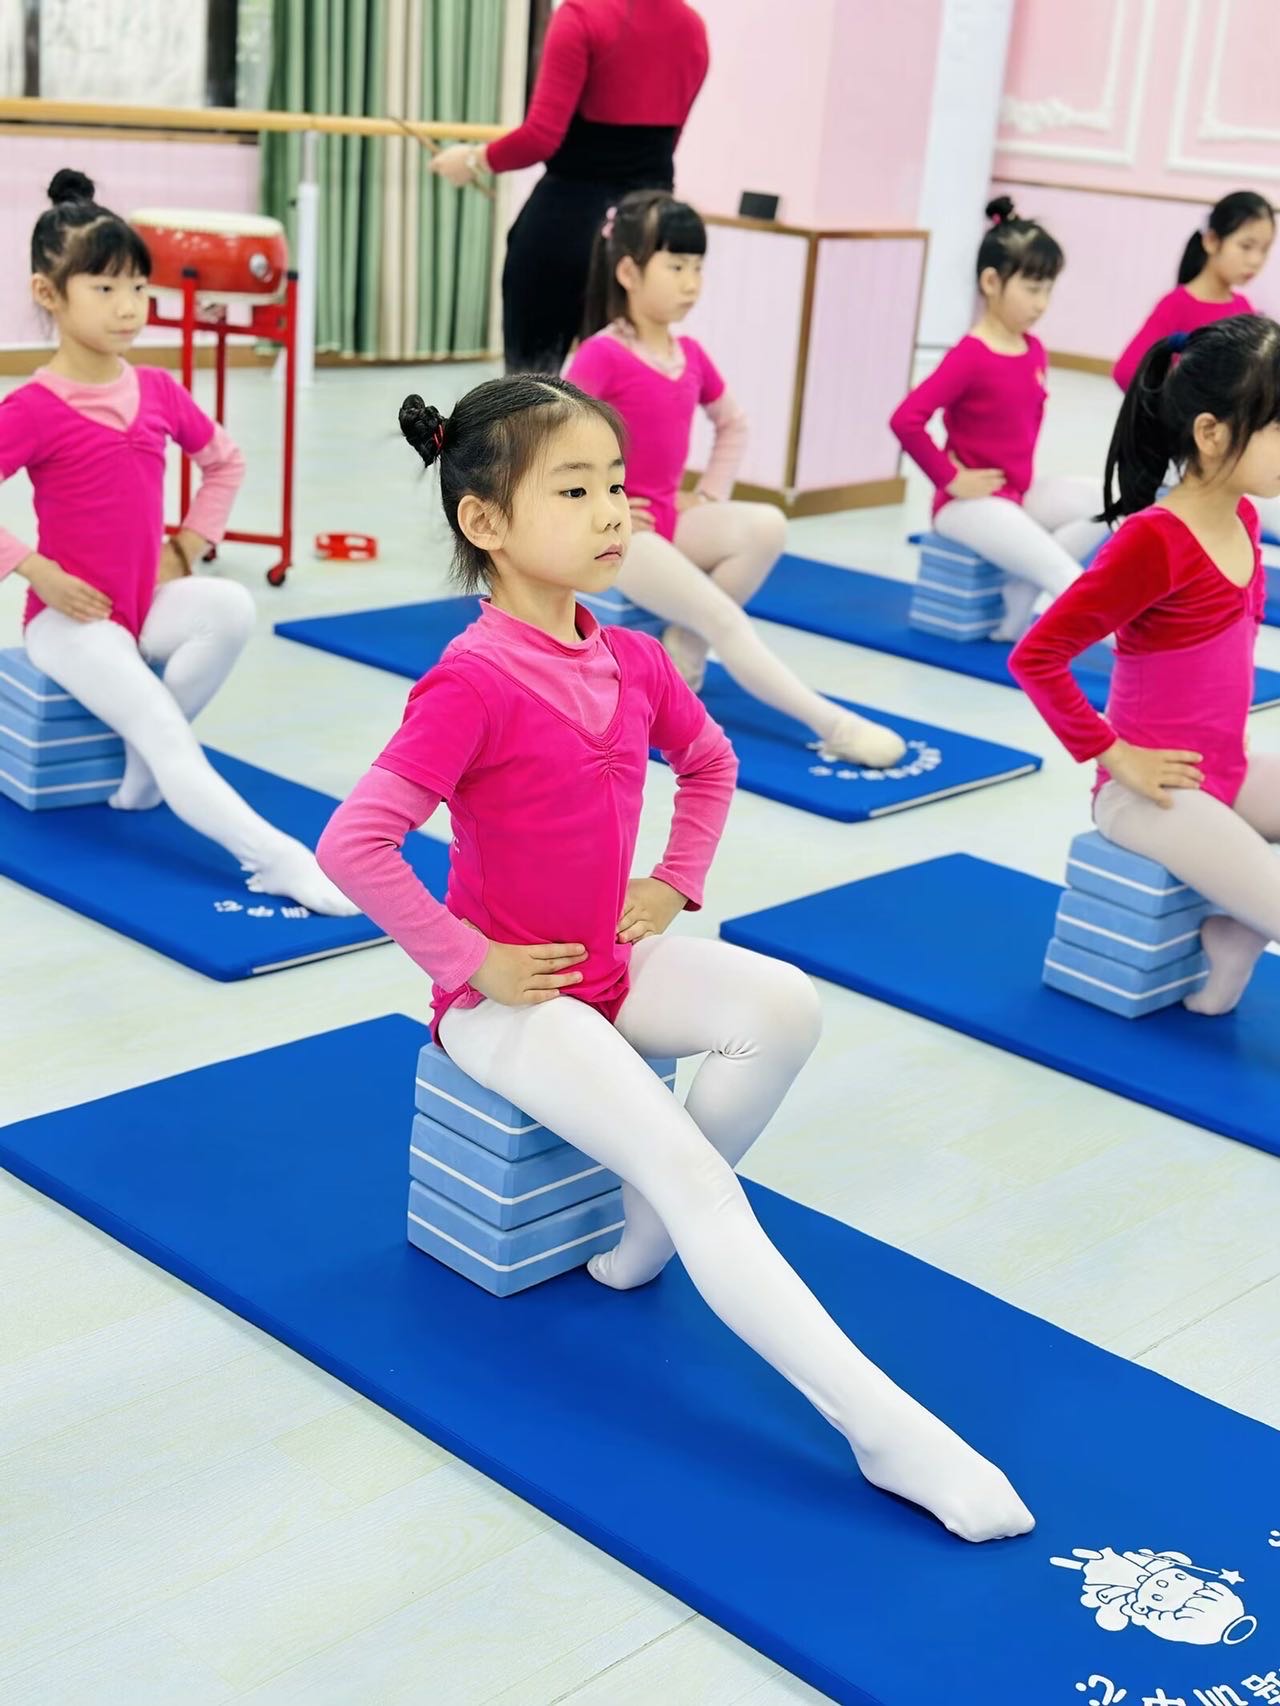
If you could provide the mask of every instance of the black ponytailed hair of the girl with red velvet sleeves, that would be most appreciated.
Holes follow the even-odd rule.
[[[1195,425],[1208,415],[1229,428],[1225,464],[1249,438],[1280,421],[1280,326],[1261,314],[1232,314],[1198,331],[1154,343],[1120,404],[1106,452],[1103,520],[1155,502],[1169,464],[1198,474]]]

